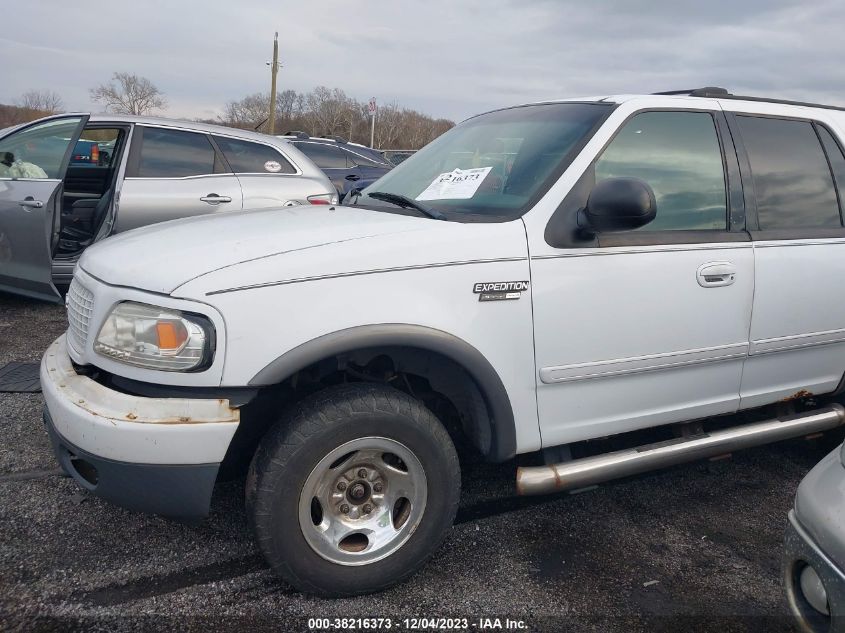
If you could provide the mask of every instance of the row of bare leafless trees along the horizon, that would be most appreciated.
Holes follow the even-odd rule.
[[[91,100],[107,112],[154,114],[167,108],[164,93],[146,77],[114,73],[110,81],[89,90]],[[60,95],[52,90],[30,90],[15,100],[14,107],[0,105],[0,128],[64,111]],[[370,144],[367,104],[340,88],[318,86],[310,92],[284,90],[276,94],[275,129],[268,128],[270,93],[255,93],[229,101],[217,119],[203,119],[230,127],[268,134],[305,132],[310,136],[341,136]],[[402,107],[396,102],[380,105],[376,115],[374,146],[380,149],[419,149],[455,123]]]

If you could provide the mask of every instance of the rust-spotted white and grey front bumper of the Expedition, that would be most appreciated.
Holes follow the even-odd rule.
[[[82,487],[133,510],[208,514],[240,419],[228,400],[114,391],[76,373],[64,336],[44,354],[41,389],[56,457]]]

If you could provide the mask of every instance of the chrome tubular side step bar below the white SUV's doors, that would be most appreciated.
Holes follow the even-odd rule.
[[[845,407],[841,404],[831,404],[798,415],[745,424],[689,438],[647,444],[551,466],[518,468],[516,490],[520,495],[577,490],[611,479],[723,455],[741,448],[811,435],[843,424]]]

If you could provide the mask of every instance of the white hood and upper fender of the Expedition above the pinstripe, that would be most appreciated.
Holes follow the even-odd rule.
[[[87,249],[79,265],[108,284],[197,297],[285,279],[525,255],[521,221],[463,224],[301,206],[128,231]]]

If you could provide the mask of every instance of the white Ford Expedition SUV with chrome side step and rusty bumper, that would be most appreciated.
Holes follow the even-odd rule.
[[[339,596],[443,541],[455,439],[533,453],[527,495],[841,426],[844,135],[841,109],[713,88],[544,102],[463,122],[352,206],[118,235],[42,361],[56,455],[193,517],[249,464],[271,568]]]

